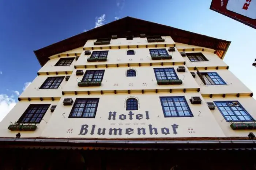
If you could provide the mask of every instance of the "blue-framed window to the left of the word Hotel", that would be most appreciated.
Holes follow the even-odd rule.
[[[68,118],[95,118],[99,98],[79,98],[68,116]]]

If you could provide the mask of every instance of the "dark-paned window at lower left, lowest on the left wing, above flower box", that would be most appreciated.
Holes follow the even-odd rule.
[[[50,104],[30,104],[17,123],[40,123]]]

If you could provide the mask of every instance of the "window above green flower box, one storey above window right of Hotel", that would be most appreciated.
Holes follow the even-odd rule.
[[[178,76],[174,68],[154,68],[155,78],[157,80],[176,80]]]

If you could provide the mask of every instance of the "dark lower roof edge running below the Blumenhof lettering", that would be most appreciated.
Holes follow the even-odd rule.
[[[248,140],[248,138],[233,137],[203,139],[148,138],[127,140],[64,138],[0,138],[0,148],[83,150],[256,150],[256,141]]]

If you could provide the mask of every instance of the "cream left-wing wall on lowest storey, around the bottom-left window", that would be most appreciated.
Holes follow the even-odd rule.
[[[18,102],[15,107],[5,116],[5,118],[0,123],[0,137],[13,137],[15,138],[15,135],[20,132],[21,138],[32,138],[32,137],[39,137],[42,134],[42,131],[45,129],[46,126],[48,126],[48,122],[50,118],[52,117],[52,114],[50,112],[50,107],[52,105],[56,105],[58,103],[57,100],[51,101],[51,100],[31,100],[29,101],[20,101]],[[25,110],[29,107],[30,104],[51,104],[46,111],[43,120],[37,124],[37,129],[35,131],[10,131],[8,130],[8,126],[12,123],[15,123],[18,121],[20,116],[25,112]]]

